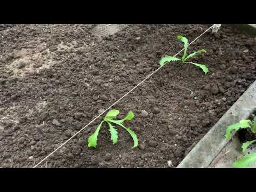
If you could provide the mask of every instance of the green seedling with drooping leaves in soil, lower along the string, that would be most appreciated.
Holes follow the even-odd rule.
[[[134,117],[134,114],[132,111],[129,111],[129,113],[127,114],[127,116],[124,119],[121,120],[117,120],[116,116],[119,114],[119,111],[117,109],[113,109],[108,111],[107,115],[105,116],[104,120],[100,122],[100,124],[98,125],[97,129],[95,130],[95,132],[88,138],[88,147],[94,147],[96,148],[97,146],[97,138],[98,138],[98,134],[100,132],[100,127],[102,125],[103,122],[106,122],[109,126],[109,132],[111,134],[111,141],[113,141],[113,145],[115,145],[117,143],[118,140],[118,135],[117,135],[117,130],[115,129],[115,126],[113,125],[119,125],[121,127],[123,127],[127,132],[130,133],[132,139],[133,139],[133,147],[135,148],[138,146],[138,139],[137,139],[137,135],[130,129],[130,128],[126,128],[123,123],[126,120],[132,120]]]

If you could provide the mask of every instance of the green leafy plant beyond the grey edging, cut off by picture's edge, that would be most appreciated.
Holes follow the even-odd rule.
[[[256,117],[254,117],[254,120],[241,120],[239,123],[235,123],[232,125],[229,125],[226,130],[226,135],[225,137],[227,139],[231,139],[231,131],[236,130],[238,131],[239,129],[246,129],[249,128],[252,133],[256,133]],[[242,145],[242,151],[244,154],[247,153],[247,148],[252,145],[252,143],[256,142],[255,140],[252,141],[247,141],[244,142]],[[234,168],[247,168],[249,167],[252,163],[256,162],[256,153],[252,154],[247,154],[245,157],[237,159],[235,163],[233,163]]]

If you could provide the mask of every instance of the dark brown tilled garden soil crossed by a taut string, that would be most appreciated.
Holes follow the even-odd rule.
[[[100,39],[95,25],[0,26],[0,167],[33,167],[71,135],[156,70],[206,25],[129,25]],[[195,66],[170,63],[114,108],[134,130],[121,127],[117,145],[102,127],[97,148],[87,147],[99,118],[38,167],[171,167],[255,81],[252,38],[222,27],[191,44],[205,49]]]

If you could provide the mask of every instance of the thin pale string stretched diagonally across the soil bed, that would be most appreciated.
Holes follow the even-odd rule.
[[[191,43],[188,44],[188,46],[192,43],[194,43],[199,37],[201,37],[203,34],[205,34],[208,30],[210,29],[214,29],[216,26],[211,26],[210,28],[208,28],[207,30],[204,31],[204,33],[202,33],[201,35],[199,35],[198,37],[196,37]],[[173,57],[176,57],[180,52],[182,52],[185,48],[183,48],[182,50],[180,50],[177,54],[175,54]],[[165,66],[165,65],[163,65]],[[89,126],[92,122],[94,122],[96,119],[98,119],[102,114],[104,114],[107,110],[109,110],[111,107],[113,107],[114,105],[116,105],[116,103],[118,103],[119,101],[121,101],[127,94],[131,93],[134,89],[136,89],[138,86],[140,86],[142,83],[144,83],[149,77],[151,77],[153,74],[155,74],[159,69],[161,69],[163,66],[160,66],[159,68],[157,68],[153,73],[151,73],[149,76],[147,76],[145,79],[143,79],[143,81],[141,81],[138,85],[134,86],[129,92],[125,93],[120,99],[118,99],[116,102],[114,102],[111,106],[109,106],[106,110],[104,110],[102,113],[100,113],[97,117],[95,117],[90,123],[88,123],[87,125],[85,125],[80,131],[76,132],[72,137],[70,137],[67,141],[63,142],[57,149],[55,149],[54,151],[52,151],[49,155],[47,155],[45,158],[42,159],[41,162],[37,163],[33,168],[36,168],[39,164],[43,163],[45,161],[45,159],[47,159],[48,157],[50,157],[53,153],[55,153],[57,150],[59,150],[62,146],[64,146],[68,141],[70,141],[71,139],[73,139],[78,133],[82,132],[87,126]]]

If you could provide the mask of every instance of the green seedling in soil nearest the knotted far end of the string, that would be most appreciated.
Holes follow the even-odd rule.
[[[181,40],[183,43],[184,43],[184,54],[183,54],[183,57],[180,59],[180,58],[177,58],[177,57],[171,57],[171,56],[167,56],[167,57],[164,57],[161,59],[161,61],[159,62],[159,65],[160,66],[163,66],[165,65],[167,62],[171,62],[171,61],[182,61],[182,63],[190,63],[190,64],[193,64],[197,67],[200,67],[205,74],[208,73],[209,69],[205,66],[205,65],[202,65],[202,64],[198,64],[198,63],[194,63],[194,62],[187,62],[187,60],[189,58],[193,58],[195,55],[201,53],[201,52],[205,52],[204,49],[202,50],[199,50],[199,51],[196,51],[194,53],[191,53],[187,56],[187,50],[188,50],[188,39],[186,37],[183,37],[183,36],[178,36],[178,39]]]

